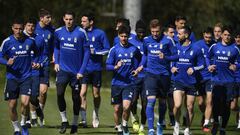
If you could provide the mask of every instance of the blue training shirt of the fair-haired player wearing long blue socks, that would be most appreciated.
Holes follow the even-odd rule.
[[[164,58],[159,57],[159,53],[164,54]],[[164,36],[157,42],[152,36],[144,39],[144,56],[147,61],[146,72],[156,75],[170,75],[170,62],[177,59],[177,48],[173,40]]]

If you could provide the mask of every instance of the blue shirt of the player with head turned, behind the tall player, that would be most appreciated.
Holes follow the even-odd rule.
[[[94,54],[90,55],[90,59],[87,64],[87,72],[101,71],[103,55],[109,52],[110,44],[105,32],[101,29],[93,27],[91,31],[86,31],[90,49],[94,49]]]

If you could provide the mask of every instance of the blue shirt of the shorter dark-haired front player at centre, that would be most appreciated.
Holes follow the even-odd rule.
[[[127,47],[121,45],[121,43],[113,46],[108,54],[106,60],[107,70],[113,71],[112,85],[129,86],[134,83],[135,78],[132,76],[132,71],[138,67],[138,60],[141,57],[141,53],[137,47],[132,44],[128,44]],[[114,70],[114,66],[118,61],[122,60],[123,65]]]

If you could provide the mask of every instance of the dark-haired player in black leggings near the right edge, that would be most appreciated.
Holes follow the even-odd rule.
[[[209,48],[208,70],[212,73],[213,118],[212,135],[216,135],[220,125],[220,135],[225,135],[225,128],[230,117],[230,103],[233,100],[233,89],[236,70],[235,61],[239,57],[238,48],[231,42],[232,30],[222,29],[221,42]],[[222,117],[221,124],[218,116]]]

